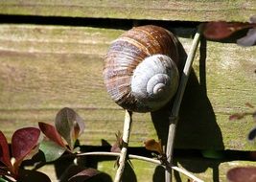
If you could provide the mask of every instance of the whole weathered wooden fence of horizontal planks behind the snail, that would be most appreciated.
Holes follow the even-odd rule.
[[[175,33],[188,52],[200,22],[245,22],[255,12],[253,0],[1,0],[0,129],[10,141],[15,129],[51,124],[58,110],[68,106],[84,119],[84,148],[102,146],[103,139],[113,144],[125,112],[110,100],[102,76],[111,41],[133,25],[155,24]],[[235,38],[201,40],[181,105],[176,162],[205,181],[225,181],[228,169],[253,164],[231,162],[232,156],[224,155],[255,150],[246,140],[255,125],[252,119],[228,119],[251,111],[246,102],[256,106],[256,49],[237,45]],[[134,114],[129,146],[143,149],[149,138],[166,143],[166,116],[166,111]],[[132,163],[136,181],[152,181],[158,171],[151,164]],[[115,173],[113,160],[98,160],[96,166]],[[52,168],[42,171],[54,181]]]

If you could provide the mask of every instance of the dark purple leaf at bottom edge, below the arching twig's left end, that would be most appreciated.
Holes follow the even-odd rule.
[[[100,172],[95,170],[95,169],[92,169],[92,168],[88,168],[88,169],[85,169],[79,173],[77,173],[76,175],[70,177],[68,179],[69,182],[83,182],[97,174],[99,174]]]

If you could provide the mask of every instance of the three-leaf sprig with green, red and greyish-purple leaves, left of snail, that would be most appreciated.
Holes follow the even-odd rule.
[[[73,109],[65,107],[58,111],[55,126],[45,123],[38,125],[46,136],[40,144],[46,162],[57,160],[65,151],[74,153],[79,150],[75,144],[84,129],[84,123]]]

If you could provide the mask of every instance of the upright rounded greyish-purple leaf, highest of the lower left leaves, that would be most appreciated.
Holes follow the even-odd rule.
[[[58,111],[55,122],[58,133],[66,140],[69,148],[74,144],[84,129],[81,117],[71,108],[65,107]]]

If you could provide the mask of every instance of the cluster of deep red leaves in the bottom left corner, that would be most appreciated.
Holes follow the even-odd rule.
[[[22,161],[31,158],[38,151],[40,130],[35,127],[24,127],[16,130],[12,135],[12,157],[7,139],[0,131],[0,175],[9,180],[32,181],[40,178],[40,181],[50,181],[43,173],[38,171],[26,171],[20,168]],[[28,180],[29,179],[29,180]]]

